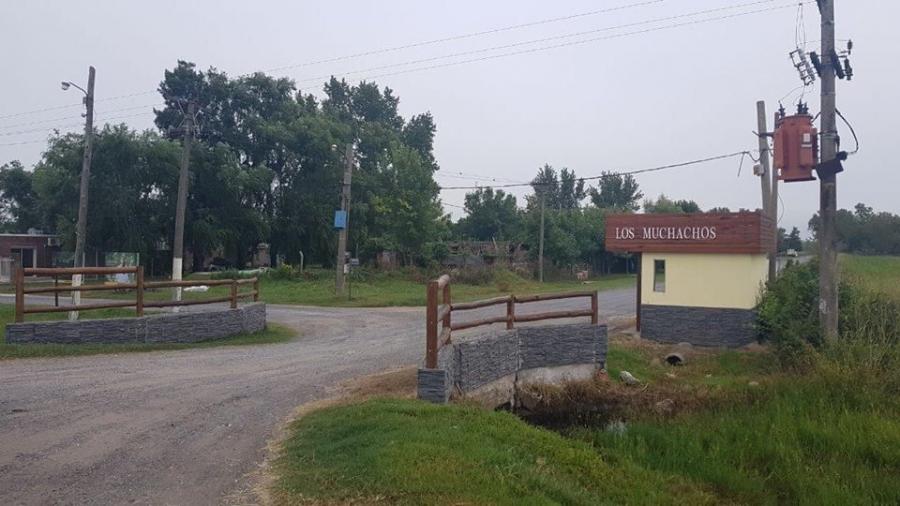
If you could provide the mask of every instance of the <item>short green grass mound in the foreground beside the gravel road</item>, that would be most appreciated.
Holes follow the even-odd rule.
[[[276,504],[708,504],[685,480],[609,462],[514,415],[378,399],[309,414],[276,463]]]

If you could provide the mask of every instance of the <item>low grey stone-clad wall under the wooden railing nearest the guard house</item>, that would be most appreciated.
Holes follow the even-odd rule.
[[[595,372],[606,366],[606,325],[578,323],[492,331],[451,342],[438,353],[437,369],[419,369],[418,397],[445,403],[451,394],[493,388],[498,398],[514,395],[517,378],[552,369],[571,373],[572,366]],[[564,377],[558,376],[560,378]],[[498,384],[498,380],[507,384]]]

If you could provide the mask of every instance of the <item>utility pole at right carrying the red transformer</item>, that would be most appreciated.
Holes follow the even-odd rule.
[[[834,65],[834,0],[820,0],[822,15],[822,106],[821,133],[822,157],[825,163],[837,157],[837,109]],[[819,322],[826,339],[838,337],[838,289],[837,289],[837,176],[819,174]]]

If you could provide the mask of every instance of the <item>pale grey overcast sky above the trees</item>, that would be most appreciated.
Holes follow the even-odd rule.
[[[900,116],[891,91],[900,77],[900,4],[836,4],[837,37],[853,40],[855,71],[838,81],[838,109],[861,143],[839,175],[838,205],[900,213],[900,167],[890,155]],[[5,2],[0,164],[30,167],[53,129],[83,128],[80,92],[59,83],[85,86],[89,65],[97,69],[96,122],[152,128],[155,90],[179,59],[232,76],[267,71],[318,96],[329,75],[389,86],[404,116],[434,115],[442,186],[527,182],[545,163],[590,177],[754,150],[757,100],[767,103],[770,127],[779,100],[790,112],[803,94],[819,110],[818,81],[798,88],[788,57],[803,40],[818,51],[815,2],[803,5],[803,22],[799,11],[784,0]],[[692,24],[673,26],[683,23]],[[526,26],[503,29],[516,25]],[[491,33],[458,37],[479,32]],[[507,48],[491,49],[498,46]],[[375,54],[350,57],[360,53]],[[850,132],[839,128],[852,150]],[[733,157],[638,182],[647,197],[755,209],[752,166]],[[818,184],[780,190],[780,226],[805,235]],[[530,188],[508,191],[524,205]],[[465,193],[441,193],[455,218]]]

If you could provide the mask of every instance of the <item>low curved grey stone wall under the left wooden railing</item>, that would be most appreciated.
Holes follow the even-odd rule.
[[[266,305],[164,313],[140,318],[10,323],[10,344],[194,343],[266,328]]]

